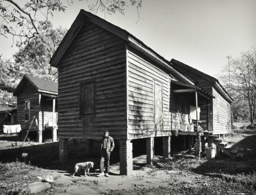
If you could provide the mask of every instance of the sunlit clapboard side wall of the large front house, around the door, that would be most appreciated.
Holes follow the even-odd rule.
[[[163,85],[163,131],[155,131],[154,80]],[[170,78],[157,65],[128,50],[128,138],[165,136],[170,130]]]

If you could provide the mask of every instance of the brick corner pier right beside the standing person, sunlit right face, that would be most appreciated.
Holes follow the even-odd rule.
[[[132,162],[132,143],[131,140],[119,140],[119,158],[120,158],[120,174],[131,175]]]

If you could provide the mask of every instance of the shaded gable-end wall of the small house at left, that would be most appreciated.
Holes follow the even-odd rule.
[[[30,118],[25,122],[25,101],[30,101]],[[23,85],[22,91],[17,96],[17,123],[20,124],[21,128],[28,128],[33,117],[38,119],[39,109],[39,94],[37,89],[29,82]],[[33,122],[31,130],[38,130],[36,122]]]

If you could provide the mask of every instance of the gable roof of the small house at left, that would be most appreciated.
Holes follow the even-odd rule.
[[[18,86],[14,90],[13,95],[18,95],[18,92],[22,89],[22,86],[26,81],[30,82],[37,89],[38,92],[58,94],[57,82],[49,81],[35,76],[24,75],[20,80]]]

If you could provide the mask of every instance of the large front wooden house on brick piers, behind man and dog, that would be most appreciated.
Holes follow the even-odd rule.
[[[119,143],[120,173],[129,174],[136,140],[146,140],[147,163],[153,162],[155,137],[162,138],[168,157],[171,136],[181,129],[181,118],[188,121],[190,104],[197,107],[198,101],[208,104],[214,98],[135,36],[84,10],[50,64],[59,73],[61,162],[67,161],[69,138],[101,139],[109,130]],[[180,98],[188,89],[191,93]]]

